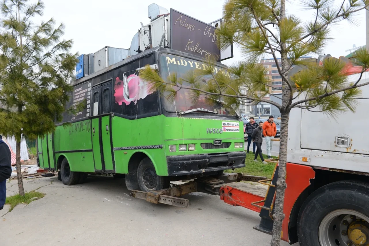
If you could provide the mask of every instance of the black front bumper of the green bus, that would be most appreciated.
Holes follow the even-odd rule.
[[[245,167],[245,158],[245,151],[237,151],[224,154],[168,156],[166,162],[169,176],[182,176]]]

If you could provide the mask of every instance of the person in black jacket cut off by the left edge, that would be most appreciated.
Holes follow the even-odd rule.
[[[10,149],[0,136],[0,210],[4,208],[6,198],[6,180],[11,175]]]

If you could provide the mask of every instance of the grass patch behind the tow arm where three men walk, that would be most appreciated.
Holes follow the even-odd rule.
[[[258,156],[258,162],[254,161],[255,155],[251,153],[246,154],[245,164],[246,167],[236,168],[234,171],[232,169],[224,170],[224,172],[241,172],[242,174],[254,175],[254,176],[262,176],[271,178],[275,163],[263,164]],[[264,159],[268,159],[268,156],[263,154]],[[277,158],[272,156],[272,158]]]

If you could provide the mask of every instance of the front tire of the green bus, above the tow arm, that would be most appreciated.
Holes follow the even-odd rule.
[[[137,180],[141,191],[158,191],[169,187],[169,178],[156,175],[154,164],[150,158],[141,160],[137,169]]]

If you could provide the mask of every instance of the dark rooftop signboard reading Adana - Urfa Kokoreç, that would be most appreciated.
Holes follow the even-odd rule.
[[[216,28],[176,10],[170,9],[170,48],[220,61]]]

